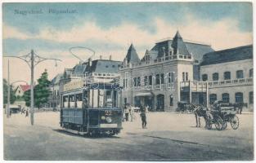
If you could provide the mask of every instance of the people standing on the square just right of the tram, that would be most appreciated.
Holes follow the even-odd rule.
[[[148,107],[143,107],[142,105],[139,106],[139,112],[141,117],[142,129],[146,129],[146,112],[148,112]],[[130,118],[129,118],[130,117]],[[125,121],[133,121],[135,119],[135,111],[134,107],[131,105],[125,104],[124,105],[124,120]]]

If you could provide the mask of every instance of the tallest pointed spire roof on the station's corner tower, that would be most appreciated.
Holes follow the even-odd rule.
[[[190,55],[190,53],[186,49],[185,43],[183,42],[182,36],[178,31],[173,37],[172,47],[173,47],[173,54],[175,55],[177,54]]]

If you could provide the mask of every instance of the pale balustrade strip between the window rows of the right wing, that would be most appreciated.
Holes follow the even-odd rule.
[[[247,85],[253,85],[254,84],[254,78],[241,78],[241,79],[234,79],[234,80],[225,80],[225,81],[209,81],[208,85],[209,88],[214,87],[222,87],[222,86],[247,86]]]

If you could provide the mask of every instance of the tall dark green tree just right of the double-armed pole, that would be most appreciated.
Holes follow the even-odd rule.
[[[51,81],[48,81],[48,73],[45,70],[41,77],[38,78],[38,85],[34,86],[34,106],[41,108],[43,104],[46,104],[48,97],[51,93],[49,89]],[[24,99],[26,106],[30,106],[30,90],[25,91]]]

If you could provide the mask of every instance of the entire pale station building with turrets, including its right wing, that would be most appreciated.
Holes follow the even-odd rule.
[[[122,104],[174,112],[179,101],[209,106],[222,100],[253,109],[253,46],[213,51],[207,44],[183,41],[177,32],[142,59],[131,45],[119,73]]]

